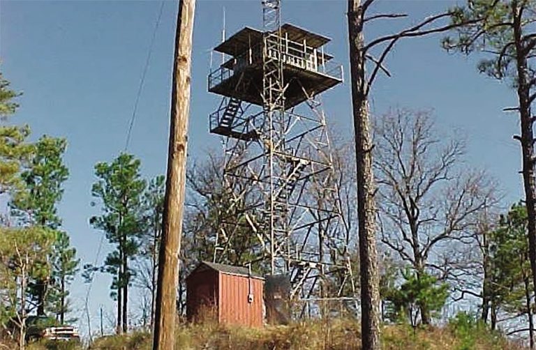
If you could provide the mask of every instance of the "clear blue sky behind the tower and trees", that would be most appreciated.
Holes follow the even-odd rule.
[[[452,6],[453,1],[380,0],[375,10],[406,12],[422,18]],[[59,213],[83,263],[96,259],[102,233],[89,227],[97,213],[91,207],[96,162],[109,161],[125,146],[149,43],[161,1],[10,1],[0,0],[0,62],[14,89],[24,91],[13,123],[29,123],[33,139],[47,134],[68,139],[66,163],[70,178]],[[192,100],[188,155],[204,157],[220,151],[208,132],[208,115],[218,98],[207,93],[209,51],[221,39],[225,6],[228,36],[242,26],[260,27],[260,0],[199,0],[193,39]],[[165,1],[156,32],[128,151],[141,158],[145,176],[165,172],[170,110],[170,76],[177,3]],[[350,137],[350,86],[346,3],[341,0],[285,0],[283,20],[332,38],[329,52],[343,63],[345,84],[325,93],[328,123]],[[409,20],[412,22],[412,20]],[[408,23],[408,22],[405,22]],[[378,22],[369,37],[394,29]],[[218,62],[214,56],[214,62]],[[396,46],[387,66],[392,78],[378,79],[372,112],[389,107],[435,110],[442,132],[468,137],[468,166],[485,168],[505,192],[505,205],[521,197],[520,153],[512,140],[519,130],[507,83],[479,75],[476,58],[447,54],[440,37],[406,40]],[[98,256],[102,261],[108,248]],[[89,308],[93,329],[98,308],[114,310],[110,277],[92,284]],[[87,285],[73,285],[74,316],[86,328],[82,309]],[[133,310],[138,300],[133,299]]]

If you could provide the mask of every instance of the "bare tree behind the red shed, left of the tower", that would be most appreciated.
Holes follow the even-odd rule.
[[[240,266],[262,255],[260,239],[252,234],[251,225],[246,220],[240,225],[234,223],[236,218],[243,218],[246,211],[251,212],[251,208],[260,203],[260,193],[243,178],[224,178],[223,168],[224,159],[209,153],[207,160],[193,164],[186,172],[186,266],[193,267],[191,264],[197,261],[213,259]],[[255,220],[255,215],[251,215],[251,220]],[[216,233],[221,248],[218,252],[214,252]]]

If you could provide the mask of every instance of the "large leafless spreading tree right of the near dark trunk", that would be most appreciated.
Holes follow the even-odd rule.
[[[457,252],[475,242],[475,222],[496,203],[493,182],[461,167],[463,139],[440,137],[430,112],[393,109],[374,131],[382,242],[417,278],[427,271],[461,277],[468,266]],[[429,324],[426,305],[419,308]]]

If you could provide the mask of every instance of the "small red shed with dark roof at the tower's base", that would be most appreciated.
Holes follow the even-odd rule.
[[[221,324],[261,327],[263,286],[246,267],[202,261],[186,277],[186,316],[193,321],[214,310]]]

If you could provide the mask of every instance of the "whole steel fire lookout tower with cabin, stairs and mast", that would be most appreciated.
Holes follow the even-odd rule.
[[[230,197],[214,261],[229,262],[245,230],[256,242],[248,262],[290,275],[292,298],[342,297],[354,291],[350,238],[319,95],[343,70],[325,52],[329,38],[281,25],[280,5],[262,1],[263,31],[246,27],[214,48],[227,59],[208,77],[223,96],[210,131],[225,138]]]

